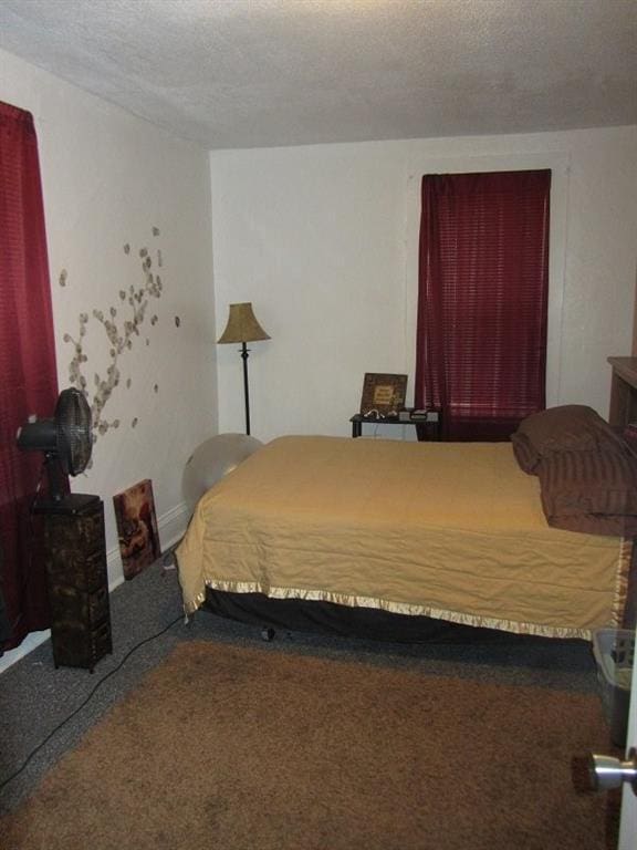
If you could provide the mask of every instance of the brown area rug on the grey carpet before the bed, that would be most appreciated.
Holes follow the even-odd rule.
[[[2,850],[602,850],[595,696],[185,643],[0,820]]]

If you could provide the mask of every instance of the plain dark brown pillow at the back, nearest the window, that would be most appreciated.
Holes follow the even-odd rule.
[[[556,452],[626,453],[626,446],[610,425],[583,404],[550,407],[526,416],[511,442],[520,467],[531,474],[536,474],[543,458]]]

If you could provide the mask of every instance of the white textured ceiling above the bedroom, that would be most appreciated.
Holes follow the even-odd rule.
[[[208,148],[637,124],[637,0],[0,0],[0,48]]]

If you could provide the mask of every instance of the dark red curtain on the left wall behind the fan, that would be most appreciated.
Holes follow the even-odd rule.
[[[0,102],[0,592],[11,638],[50,625],[45,574],[31,516],[43,458],[15,446],[31,415],[58,398],[38,139],[30,113]]]

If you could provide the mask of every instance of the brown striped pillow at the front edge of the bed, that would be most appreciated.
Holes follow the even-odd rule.
[[[637,535],[637,459],[616,452],[561,452],[537,467],[550,526],[591,535]]]

